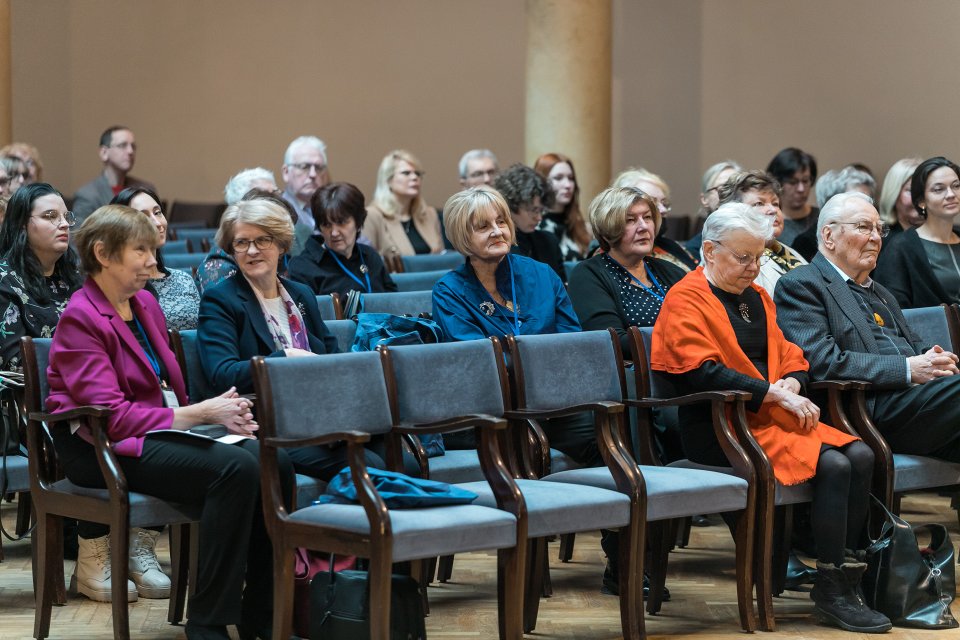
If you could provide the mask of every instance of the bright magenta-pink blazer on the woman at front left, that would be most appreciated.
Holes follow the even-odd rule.
[[[186,405],[186,387],[160,305],[149,292],[139,291],[130,306],[163,361],[180,405]],[[140,456],[146,432],[173,424],[173,409],[163,406],[160,383],[143,348],[91,278],[70,297],[60,317],[47,379],[51,413],[91,404],[113,411],[107,437],[118,455]],[[92,442],[86,426],[77,433]]]

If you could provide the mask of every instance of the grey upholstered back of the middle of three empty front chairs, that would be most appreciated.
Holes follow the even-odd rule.
[[[468,340],[390,348],[400,422],[503,415],[493,343]]]

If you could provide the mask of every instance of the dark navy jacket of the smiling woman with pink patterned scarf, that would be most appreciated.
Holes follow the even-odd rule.
[[[310,350],[317,354],[337,353],[337,340],[327,331],[317,298],[309,287],[286,278],[280,278],[280,282],[303,316]],[[203,370],[220,393],[230,387],[236,387],[240,393],[252,393],[250,359],[284,356],[283,351],[275,350],[257,296],[241,273],[203,292],[197,347]]]

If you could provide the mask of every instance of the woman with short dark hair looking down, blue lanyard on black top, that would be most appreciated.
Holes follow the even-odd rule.
[[[290,260],[290,279],[302,282],[317,295],[351,291],[396,291],[380,254],[360,244],[367,217],[363,193],[346,182],[320,187],[310,202],[319,236],[307,240],[303,253]]]

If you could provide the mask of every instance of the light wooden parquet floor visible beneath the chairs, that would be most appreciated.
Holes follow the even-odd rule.
[[[13,525],[14,506],[3,503],[5,525]],[[950,528],[954,541],[960,540],[956,514],[949,500],[934,495],[904,500],[904,515],[913,522],[942,522]],[[717,521],[719,522],[719,520]],[[556,558],[556,546],[551,555]],[[0,564],[0,640],[29,639],[33,635],[33,592],[30,580],[30,549],[27,541],[4,540],[5,561]],[[167,560],[164,544],[161,561]],[[665,603],[660,615],[647,618],[650,638],[677,639],[743,638],[737,618],[733,580],[732,542],[720,524],[695,528],[691,544],[670,556],[667,579],[673,600]],[[607,640],[620,637],[617,599],[600,594],[603,569],[599,536],[577,537],[573,562],[553,560],[554,596],[542,601],[537,629],[531,639],[576,638]],[[73,570],[67,562],[65,571]],[[453,582],[430,589],[431,615],[427,634],[431,640],[496,638],[496,563],[493,554],[458,556]],[[69,576],[69,573],[67,574]],[[787,592],[775,600],[778,631],[776,635],[758,632],[758,637],[787,637],[791,640],[826,640],[858,637],[819,626],[811,613],[813,606],[806,593]],[[960,614],[956,607],[954,611]],[[167,601],[141,599],[130,605],[133,638],[173,640],[183,638],[182,627],[166,622]],[[51,638],[107,640],[112,637],[110,606],[71,596],[64,607],[54,607]],[[867,636],[863,637],[875,637]],[[902,640],[933,638],[960,639],[960,630],[918,631],[894,629],[885,636]]]

